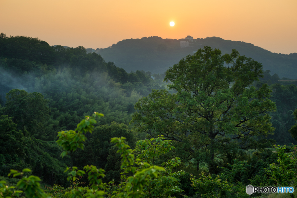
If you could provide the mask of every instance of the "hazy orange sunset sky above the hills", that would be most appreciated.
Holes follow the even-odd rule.
[[[129,38],[191,35],[297,52],[297,0],[0,0],[0,19],[7,36],[50,45],[96,49]]]

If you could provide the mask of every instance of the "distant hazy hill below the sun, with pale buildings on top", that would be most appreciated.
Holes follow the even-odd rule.
[[[251,43],[224,40],[219,37],[194,39],[193,42],[189,42],[189,47],[181,48],[180,40],[162,39],[157,36],[126,39],[108,48],[97,48],[95,52],[105,61],[115,62],[115,65],[127,72],[144,70],[163,73],[181,58],[193,55],[197,49],[207,45],[220,49],[222,54],[231,53],[232,49],[236,49],[241,55],[261,62],[263,70],[270,70],[272,74],[277,73],[280,78],[297,78],[297,53],[276,54]]]

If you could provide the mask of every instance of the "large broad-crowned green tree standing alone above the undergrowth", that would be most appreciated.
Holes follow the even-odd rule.
[[[131,123],[149,136],[174,140],[176,155],[194,158],[197,169],[206,162],[214,170],[218,158],[232,162],[242,150],[269,143],[259,137],[274,131],[271,91],[267,84],[251,86],[262,73],[261,63],[236,50],[222,56],[205,46],[167,70],[165,81],[175,93],[154,90],[140,99]]]

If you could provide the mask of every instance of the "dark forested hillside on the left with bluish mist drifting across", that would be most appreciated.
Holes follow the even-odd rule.
[[[98,120],[94,140],[90,136],[85,151],[78,151],[75,165],[90,161],[104,168],[110,138],[125,136],[131,145],[137,140],[127,126],[134,104],[151,89],[164,88],[150,73],[127,73],[83,47],[50,47],[38,38],[1,33],[0,48],[1,148],[7,148],[0,149],[1,176],[10,169],[30,168],[49,184],[66,185],[61,175],[69,159],[62,160],[61,149],[51,141],[94,111],[105,117]]]

